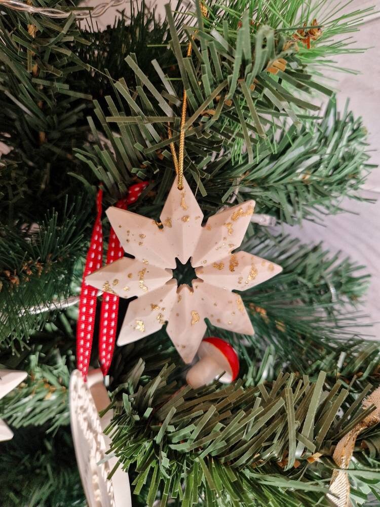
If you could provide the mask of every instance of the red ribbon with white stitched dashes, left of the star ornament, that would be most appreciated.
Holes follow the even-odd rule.
[[[137,183],[130,187],[128,196],[117,203],[117,207],[127,209],[138,199],[141,192],[147,186],[147,182]],[[90,248],[87,252],[86,266],[83,273],[81,298],[79,302],[79,317],[77,325],[77,367],[82,372],[83,378],[87,380],[89,362],[91,356],[92,339],[95,327],[95,310],[97,289],[85,282],[85,277],[99,269],[102,265],[103,256],[103,234],[101,227],[102,212],[102,190],[96,196],[97,215],[92,231]],[[111,228],[107,250],[106,264],[110,264],[124,255],[115,231]],[[99,329],[99,359],[103,375],[107,375],[115,348],[116,328],[118,323],[119,296],[104,293],[100,312]]]

